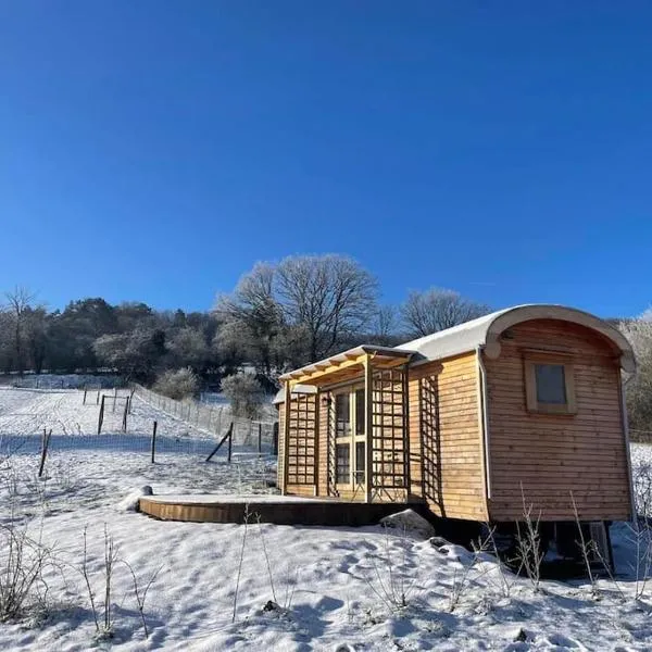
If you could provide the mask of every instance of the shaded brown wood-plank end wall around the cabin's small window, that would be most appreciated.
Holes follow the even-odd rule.
[[[523,518],[523,493],[542,519],[574,518],[570,491],[586,519],[626,519],[630,512],[619,365],[593,330],[554,319],[509,329],[498,360],[486,360],[494,521]],[[577,414],[526,409],[525,349],[572,353]]]

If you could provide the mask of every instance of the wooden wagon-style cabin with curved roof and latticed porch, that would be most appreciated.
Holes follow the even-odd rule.
[[[522,305],[406,342],[361,346],[281,376],[284,494],[421,503],[435,516],[632,516],[620,333]],[[573,494],[573,499],[572,499]]]

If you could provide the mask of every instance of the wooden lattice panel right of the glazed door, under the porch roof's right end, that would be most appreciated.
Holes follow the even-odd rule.
[[[381,369],[372,383],[372,491],[383,499],[404,497],[409,485],[408,406],[402,369]]]

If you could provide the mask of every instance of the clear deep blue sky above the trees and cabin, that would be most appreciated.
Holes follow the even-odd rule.
[[[0,288],[208,309],[341,252],[384,300],[652,302],[648,2],[0,0]]]

